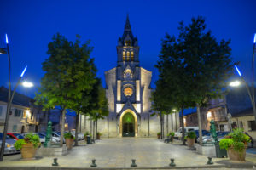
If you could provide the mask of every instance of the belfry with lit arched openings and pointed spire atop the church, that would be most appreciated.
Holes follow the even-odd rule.
[[[119,66],[124,66],[127,63],[135,66],[139,65],[137,37],[133,37],[132,35],[128,14],[125,22],[125,31],[123,36],[119,37],[118,46],[116,48]]]

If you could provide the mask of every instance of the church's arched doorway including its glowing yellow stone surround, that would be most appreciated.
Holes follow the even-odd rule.
[[[119,119],[119,134],[121,137],[137,136],[137,115],[130,109],[125,110]]]

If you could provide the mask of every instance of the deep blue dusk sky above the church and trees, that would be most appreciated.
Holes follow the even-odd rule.
[[[8,33],[11,53],[11,81],[20,77],[28,65],[24,79],[36,87],[44,76],[41,63],[49,56],[47,45],[56,32],[74,40],[91,40],[97,75],[104,82],[104,71],[116,66],[116,45],[124,31],[129,13],[131,29],[140,46],[141,66],[153,71],[152,88],[157,80],[154,68],[160,54],[161,39],[166,32],[177,36],[178,22],[189,24],[192,17],[206,18],[207,29],[220,39],[231,39],[232,57],[241,61],[241,72],[251,77],[253,33],[256,32],[256,1],[1,1],[0,48],[5,48]],[[0,86],[8,87],[8,58],[0,55]],[[33,97],[36,88],[19,88],[18,92]]]

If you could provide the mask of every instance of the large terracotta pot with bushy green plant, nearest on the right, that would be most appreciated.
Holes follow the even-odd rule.
[[[219,146],[228,151],[231,161],[245,161],[247,143],[250,137],[243,133],[243,129],[234,129],[232,133],[221,139]]]

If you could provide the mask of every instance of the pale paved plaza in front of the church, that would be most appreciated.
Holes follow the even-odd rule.
[[[6,167],[52,167],[54,157],[37,157],[32,161],[21,161],[20,154],[4,156],[4,161],[0,162],[0,168]],[[79,142],[78,147],[68,151],[67,156],[59,156],[59,167],[89,168],[92,159],[96,159],[96,164],[102,169],[106,168],[129,168],[131,159],[136,159],[137,167],[167,168],[170,158],[175,159],[177,167],[206,167],[207,156],[201,156],[190,150],[187,146],[175,141],[173,144],[165,144],[157,139],[142,138],[119,138],[102,139],[96,144],[86,145]],[[233,165],[226,158],[213,158],[214,167],[224,167]],[[239,163],[240,167],[253,167],[256,165],[256,157],[247,154],[247,162]],[[210,168],[211,166],[209,166]],[[10,168],[11,169],[11,168]],[[21,168],[19,168],[21,169]]]

